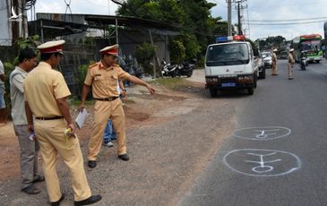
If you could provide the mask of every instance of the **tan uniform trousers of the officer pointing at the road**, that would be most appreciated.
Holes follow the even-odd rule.
[[[108,119],[111,119],[116,131],[118,155],[126,153],[125,113],[122,101],[97,100],[94,105],[94,125],[89,142],[89,160],[97,160]]]

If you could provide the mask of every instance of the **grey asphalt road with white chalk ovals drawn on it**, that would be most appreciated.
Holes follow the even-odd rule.
[[[280,75],[268,69],[254,96],[215,99],[236,107],[237,130],[178,205],[327,205],[327,61],[306,71],[296,64],[294,80],[286,60],[278,67]]]

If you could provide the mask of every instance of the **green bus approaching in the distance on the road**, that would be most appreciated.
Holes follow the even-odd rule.
[[[292,40],[296,61],[300,61],[301,51],[306,51],[308,62],[323,60],[322,36],[319,34],[302,35]]]

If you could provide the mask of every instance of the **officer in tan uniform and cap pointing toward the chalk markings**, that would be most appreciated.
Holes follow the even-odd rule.
[[[117,81],[128,80],[145,86],[151,94],[155,93],[154,88],[149,83],[126,73],[116,64],[118,45],[105,47],[100,50],[100,53],[102,54],[101,61],[90,65],[86,74],[82,89],[82,104],[79,107],[82,110],[86,96],[90,91],[90,87],[92,87],[93,98],[96,102],[94,105],[94,125],[89,142],[89,167],[97,166],[97,156],[108,119],[111,119],[116,131],[118,158],[125,161],[129,160],[126,150],[125,114],[122,101],[119,99],[119,93],[116,90]]]

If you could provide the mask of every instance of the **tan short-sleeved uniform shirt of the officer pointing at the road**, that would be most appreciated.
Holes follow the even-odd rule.
[[[117,81],[125,80],[130,74],[118,64],[105,68],[101,62],[90,65],[84,83],[92,86],[93,98],[118,97]]]

